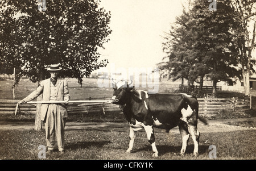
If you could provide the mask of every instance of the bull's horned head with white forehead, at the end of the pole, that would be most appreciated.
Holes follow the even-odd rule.
[[[113,81],[113,79],[112,79]],[[113,81],[114,82],[114,81]],[[133,91],[134,87],[131,85],[133,81],[118,81],[114,82],[114,93],[112,97],[112,103],[116,105],[125,105],[130,91]]]

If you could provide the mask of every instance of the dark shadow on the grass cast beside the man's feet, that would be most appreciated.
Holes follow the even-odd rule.
[[[80,141],[76,143],[70,143],[65,145],[66,149],[80,149],[80,148],[88,148],[88,147],[103,147],[104,145],[108,145],[112,143],[111,141]]]

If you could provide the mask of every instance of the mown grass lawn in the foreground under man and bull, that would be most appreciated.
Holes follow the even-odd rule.
[[[45,145],[44,131],[0,131],[0,159],[39,159],[38,146]],[[181,137],[155,129],[156,147],[159,157],[152,157],[151,145],[144,131],[138,131],[131,153],[129,128],[118,130],[68,130],[65,132],[66,153],[53,152],[46,159],[209,159],[209,146],[216,145],[217,159],[256,159],[256,132],[234,131],[201,134],[199,156],[193,156],[193,142],[189,139],[184,157],[179,155]],[[224,138],[225,137],[225,138]]]

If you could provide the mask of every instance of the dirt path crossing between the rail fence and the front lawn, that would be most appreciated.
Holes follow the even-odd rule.
[[[256,128],[245,128],[239,126],[230,126],[228,122],[238,122],[245,120],[254,120],[256,118],[240,118],[240,119],[222,119],[222,120],[208,120],[208,126],[199,122],[198,128],[200,132],[225,132],[225,131],[236,131],[236,130],[256,130]],[[34,128],[33,122],[0,122],[0,130],[29,130]],[[79,122],[68,122],[66,124],[65,130],[106,130],[106,131],[126,131],[129,129],[127,123],[113,123],[113,122],[89,122],[89,123],[79,123]],[[156,129],[156,131],[164,131]],[[179,133],[179,128],[175,127],[170,130],[172,133]]]

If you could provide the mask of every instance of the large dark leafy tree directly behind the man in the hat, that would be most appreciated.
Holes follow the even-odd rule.
[[[49,77],[47,66],[57,63],[63,68],[61,76],[82,84],[83,77],[108,63],[98,61],[97,49],[111,33],[110,13],[98,7],[99,1],[49,0],[45,11],[30,0],[5,0],[0,5],[0,55],[17,69],[15,84],[22,75],[40,82]]]

